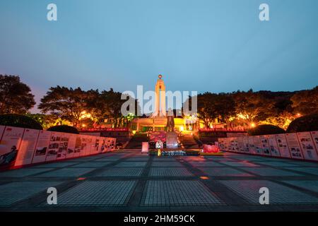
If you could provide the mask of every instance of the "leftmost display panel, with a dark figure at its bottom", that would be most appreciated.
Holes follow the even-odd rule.
[[[10,165],[16,160],[24,129],[6,126],[0,143],[0,166]]]

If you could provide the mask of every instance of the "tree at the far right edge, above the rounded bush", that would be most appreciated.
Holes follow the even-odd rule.
[[[296,114],[318,113],[318,86],[312,90],[303,90],[291,97]]]

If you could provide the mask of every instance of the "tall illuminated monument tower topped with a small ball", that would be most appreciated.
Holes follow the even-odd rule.
[[[155,111],[151,114],[151,118],[154,117],[166,117],[165,111],[165,83],[163,82],[163,76],[159,75],[157,83],[155,83]]]

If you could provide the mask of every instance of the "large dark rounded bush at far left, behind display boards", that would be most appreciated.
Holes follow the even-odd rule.
[[[35,121],[35,119],[27,117],[23,114],[1,114],[0,125],[16,126],[28,129],[43,129],[41,124]]]

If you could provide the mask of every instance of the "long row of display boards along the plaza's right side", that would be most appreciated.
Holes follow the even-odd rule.
[[[220,150],[318,161],[318,131],[218,138]]]

